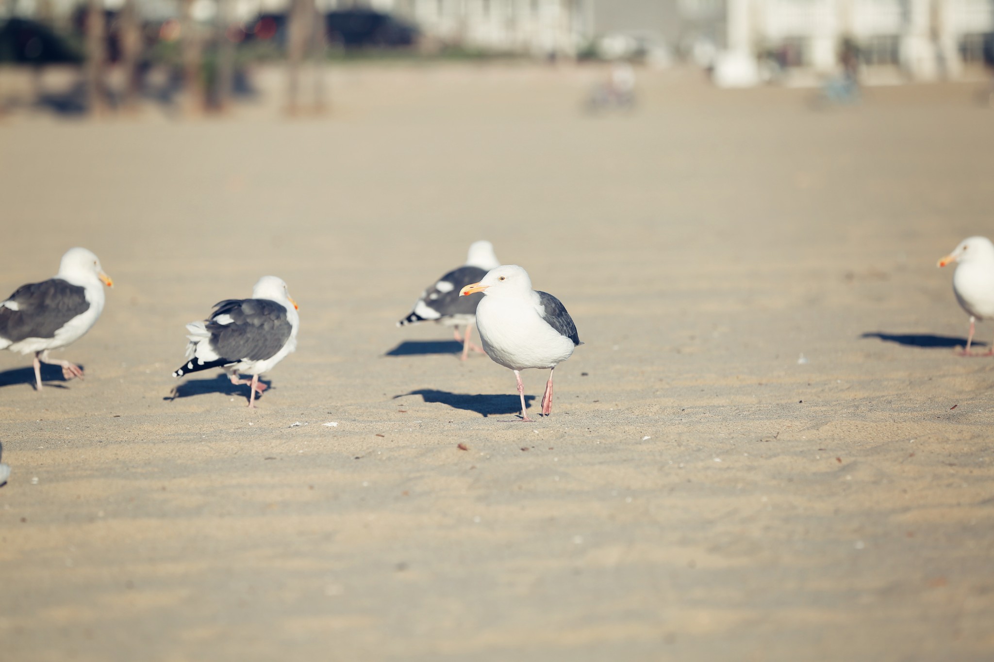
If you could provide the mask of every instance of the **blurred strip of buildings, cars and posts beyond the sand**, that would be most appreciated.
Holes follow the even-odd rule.
[[[385,60],[614,63],[594,109],[673,66],[851,101],[855,83],[982,79],[992,33],[992,0],[2,0],[0,112],[322,112],[330,66]]]

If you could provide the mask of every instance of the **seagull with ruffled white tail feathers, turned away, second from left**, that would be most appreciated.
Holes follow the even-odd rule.
[[[263,276],[252,288],[251,299],[226,299],[214,305],[210,318],[187,325],[188,360],[173,376],[224,368],[233,384],[251,385],[248,408],[254,409],[255,392],[266,388],[258,376],[297,348],[299,325],[297,302],[290,298],[286,283]],[[251,379],[240,378],[240,372]]]

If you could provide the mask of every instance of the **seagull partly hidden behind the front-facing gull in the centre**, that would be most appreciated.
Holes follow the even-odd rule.
[[[414,304],[411,315],[398,322],[397,326],[432,320],[446,327],[454,327],[453,336],[456,341],[462,342],[462,360],[466,360],[470,349],[483,353],[482,347],[469,340],[473,332],[476,306],[483,297],[461,299],[459,291],[464,285],[479,281],[488,271],[498,266],[500,260],[494,254],[493,244],[489,241],[474,241],[469,246],[466,263],[428,286]],[[462,325],[466,327],[465,337],[459,335],[459,327]]]

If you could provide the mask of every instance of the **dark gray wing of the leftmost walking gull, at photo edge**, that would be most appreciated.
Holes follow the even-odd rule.
[[[56,331],[89,310],[83,287],[61,278],[22,285],[7,302],[17,310],[0,305],[0,335],[11,342],[55,337]]]

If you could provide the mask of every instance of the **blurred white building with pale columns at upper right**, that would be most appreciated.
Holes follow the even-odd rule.
[[[838,66],[843,39],[851,39],[865,65],[930,80],[981,65],[994,0],[727,0],[725,18],[719,66],[741,69],[778,53],[787,66],[828,72]]]

